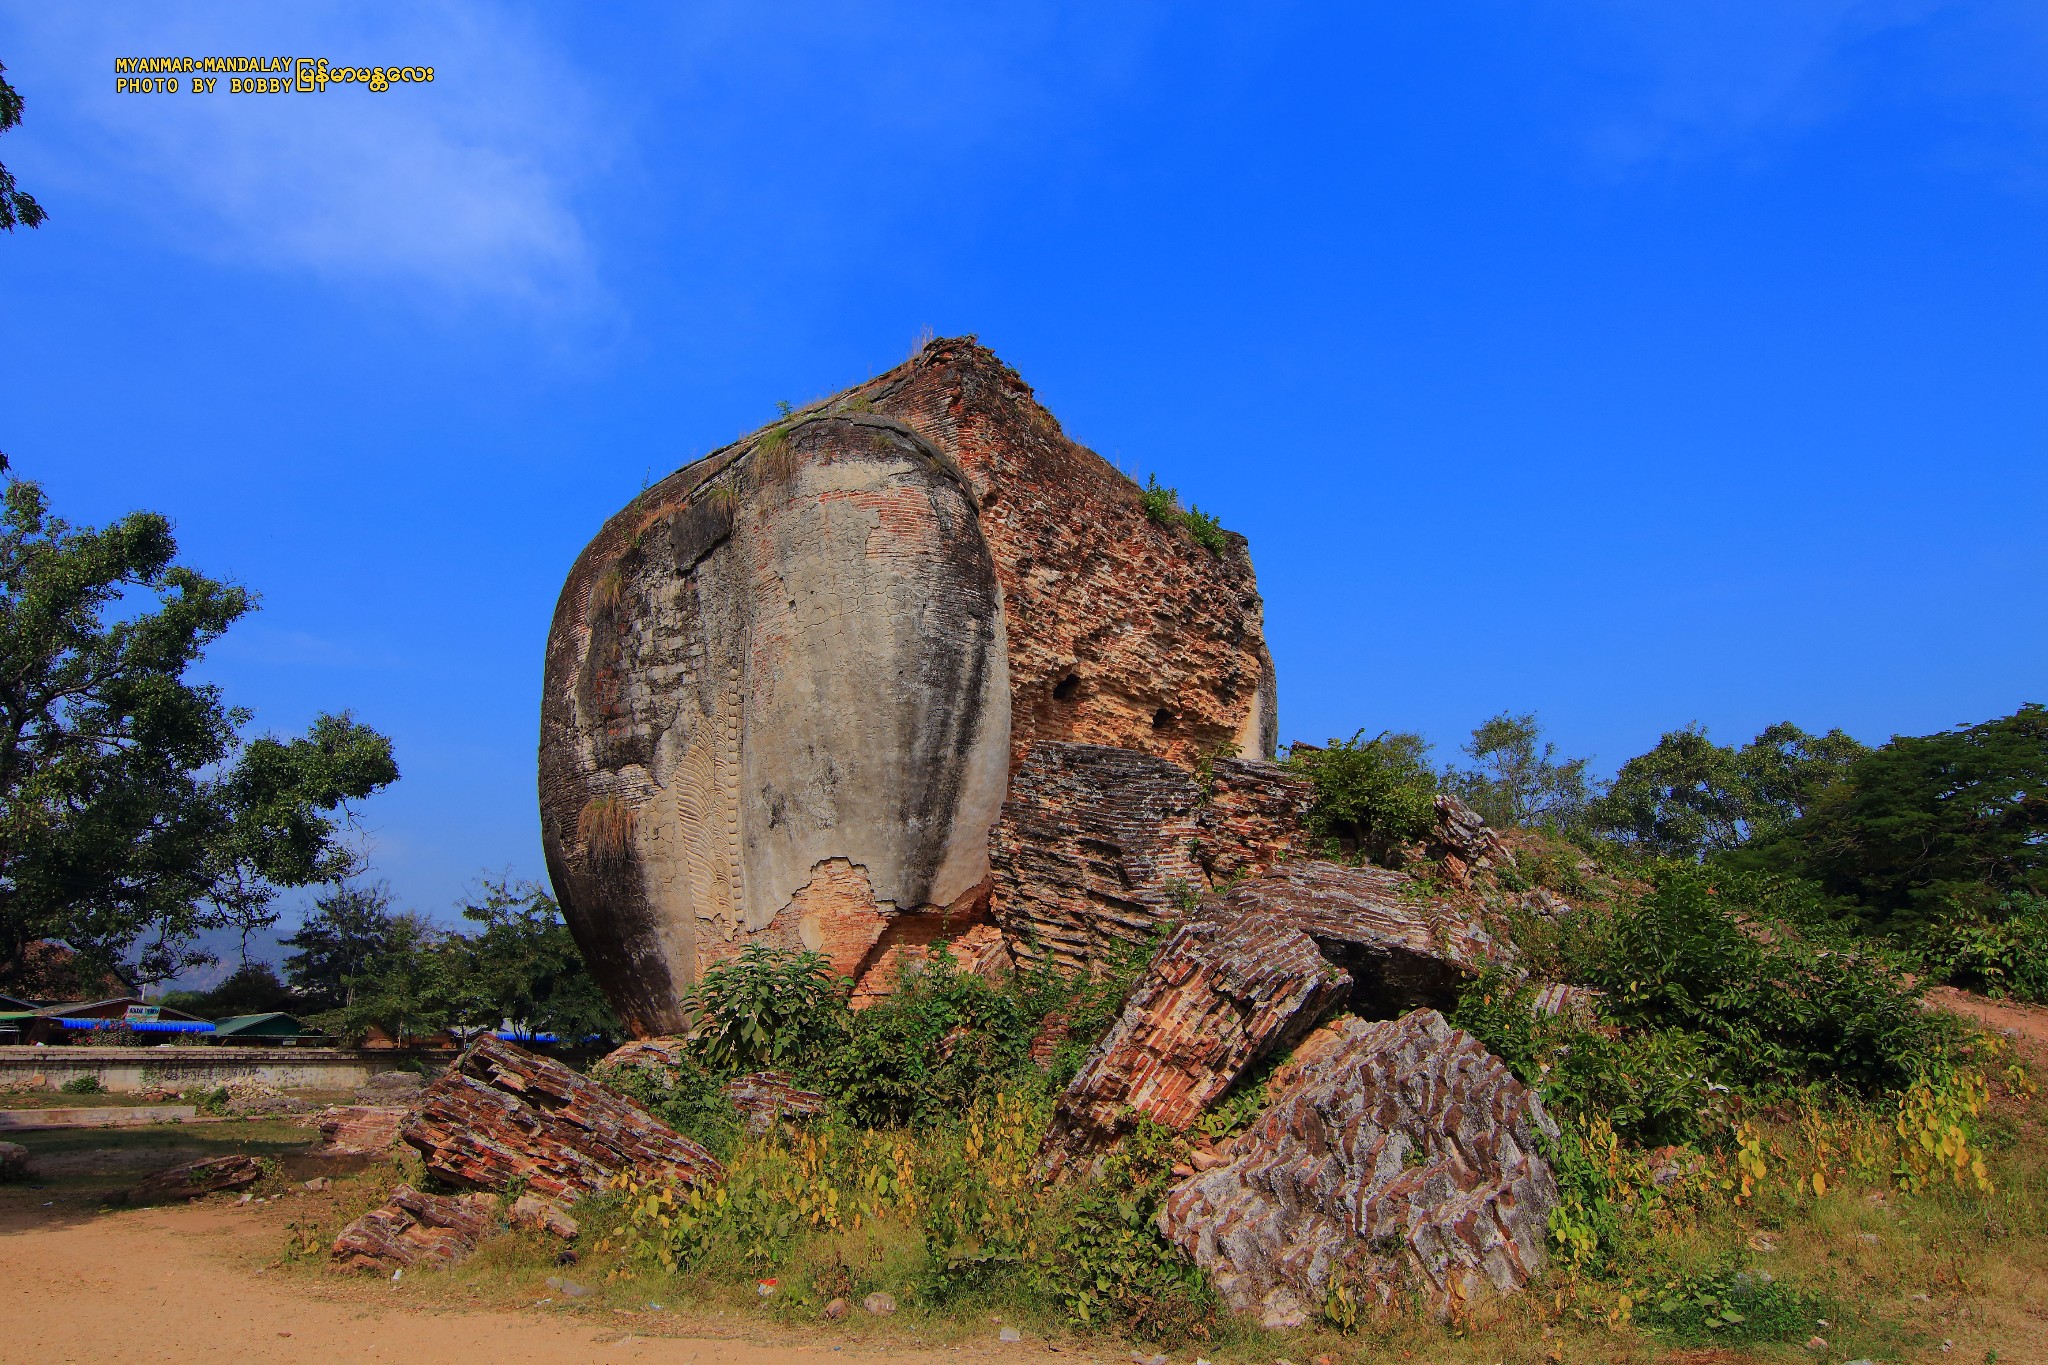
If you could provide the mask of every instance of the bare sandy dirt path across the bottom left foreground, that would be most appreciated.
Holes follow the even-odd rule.
[[[768,1365],[786,1361],[1044,1361],[1042,1345],[877,1349],[623,1336],[604,1310],[436,1310],[385,1283],[266,1279],[274,1230],[219,1205],[8,1212],[0,1218],[0,1363],[190,1365]],[[836,1349],[838,1347],[838,1349]],[[1073,1359],[1061,1355],[1053,1359]]]

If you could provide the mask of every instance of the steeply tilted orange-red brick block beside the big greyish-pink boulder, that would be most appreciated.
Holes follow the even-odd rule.
[[[1278,917],[1182,925],[1059,1097],[1040,1146],[1044,1173],[1092,1164],[1133,1113],[1186,1128],[1348,990],[1315,941]]]

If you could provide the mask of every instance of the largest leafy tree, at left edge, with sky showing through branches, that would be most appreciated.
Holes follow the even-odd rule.
[[[242,739],[250,714],[184,673],[254,600],[176,548],[158,514],[76,528],[8,479],[0,980],[45,939],[137,982],[213,962],[195,937],[268,923],[272,888],[344,872],[338,812],[397,778],[391,743],[346,714]]]

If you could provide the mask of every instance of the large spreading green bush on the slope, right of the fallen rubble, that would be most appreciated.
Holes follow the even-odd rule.
[[[1937,1060],[1950,1025],[1878,945],[1808,937],[1808,886],[1665,866],[1649,894],[1587,917],[1571,978],[1630,1029],[1681,1029],[1743,1085],[1896,1091]]]

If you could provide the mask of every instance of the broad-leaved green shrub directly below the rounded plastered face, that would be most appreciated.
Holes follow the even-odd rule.
[[[846,993],[823,954],[748,943],[705,972],[684,1009],[711,1070],[786,1070],[846,1036]]]

